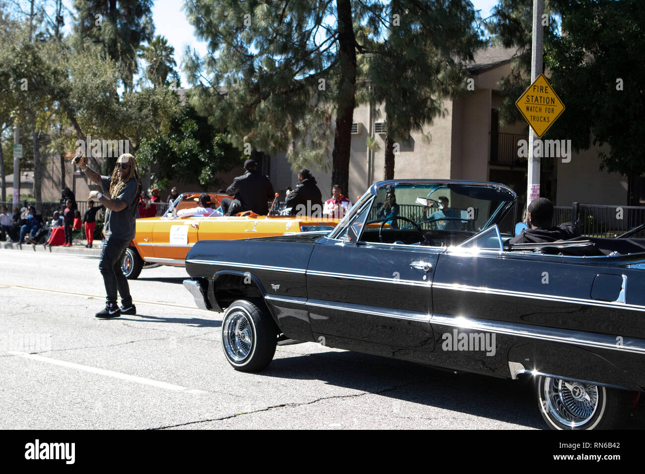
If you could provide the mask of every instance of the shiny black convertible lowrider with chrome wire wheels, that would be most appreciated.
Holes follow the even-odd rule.
[[[226,311],[236,370],[323,342],[535,377],[551,428],[618,426],[645,387],[645,239],[510,245],[516,198],[495,183],[376,183],[332,232],[197,242],[184,286]]]

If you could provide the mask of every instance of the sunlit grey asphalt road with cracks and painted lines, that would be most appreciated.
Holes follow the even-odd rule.
[[[542,429],[530,384],[326,348],[281,346],[262,373],[224,359],[220,313],[183,268],[130,282],[139,314],[104,306],[95,257],[0,250],[1,429]]]

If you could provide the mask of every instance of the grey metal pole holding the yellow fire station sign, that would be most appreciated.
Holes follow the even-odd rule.
[[[542,74],[542,14],[544,14],[544,0],[533,0],[533,42],[531,43],[531,83]],[[535,132],[528,130],[528,179],[526,181],[526,206],[531,203],[531,198],[540,195],[540,159],[533,156],[533,141]]]

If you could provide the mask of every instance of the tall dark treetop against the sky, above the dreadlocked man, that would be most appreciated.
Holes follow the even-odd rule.
[[[137,74],[137,50],[152,41],[153,0],[74,0],[77,42],[101,44],[104,53],[119,64],[119,77],[132,89]]]

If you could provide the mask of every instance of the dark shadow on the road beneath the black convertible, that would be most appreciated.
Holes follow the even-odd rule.
[[[413,362],[377,355],[326,352],[281,357],[261,375],[281,379],[323,380],[339,387],[377,393],[393,400],[418,403],[444,410],[469,413],[546,429],[538,410],[531,380],[507,380],[472,373],[458,373],[426,368]],[[404,413],[401,413],[404,415]],[[393,411],[392,416],[397,416]],[[642,429],[645,408],[633,412],[626,426]],[[471,428],[479,428],[476,424]]]

